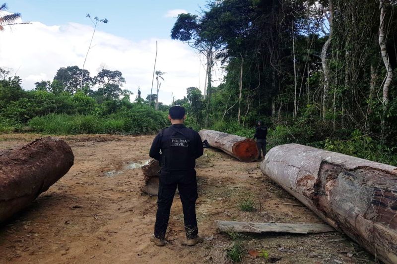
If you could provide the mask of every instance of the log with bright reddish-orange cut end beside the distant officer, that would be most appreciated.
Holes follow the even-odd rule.
[[[215,130],[200,130],[201,140],[206,140],[213,148],[220,149],[230,156],[244,162],[252,162],[259,158],[255,140],[236,135],[230,135]]]

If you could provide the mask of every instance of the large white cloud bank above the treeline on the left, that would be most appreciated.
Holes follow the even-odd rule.
[[[60,67],[77,65],[81,68],[92,30],[90,26],[77,23],[47,26],[33,22],[12,29],[8,27],[0,32],[0,67],[12,68],[22,78],[24,89],[33,89],[37,81],[52,80]],[[97,74],[101,64],[120,70],[126,78],[124,89],[136,95],[140,86],[142,96],[146,97],[150,94],[155,52],[155,38],[132,42],[96,31],[85,69],[91,76]],[[159,101],[165,104],[172,102],[172,93],[176,99],[186,96],[188,87],[200,86],[203,91],[205,70],[199,56],[179,41],[158,39],[156,70],[167,73],[159,95]],[[220,71],[214,74],[223,76]],[[214,85],[218,83],[214,81]]]

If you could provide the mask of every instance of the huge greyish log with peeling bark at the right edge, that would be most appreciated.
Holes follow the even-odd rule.
[[[397,167],[298,144],[272,148],[262,171],[385,263],[397,263]]]

